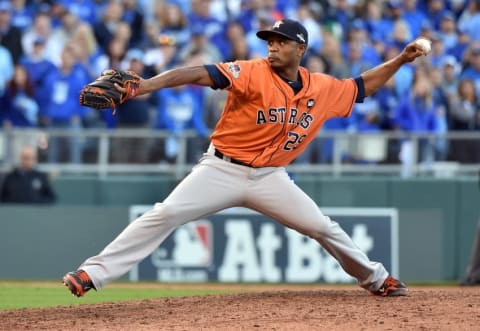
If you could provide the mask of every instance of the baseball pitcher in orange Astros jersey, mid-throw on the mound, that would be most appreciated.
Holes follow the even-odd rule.
[[[280,20],[257,36],[267,42],[267,58],[177,68],[150,79],[133,73],[120,75],[127,77],[125,83],[122,78],[103,77],[103,85],[93,82],[82,90],[81,102],[98,108],[183,84],[229,93],[210,147],[199,163],[163,202],[63,277],[73,295],[100,290],[124,275],[178,226],[237,206],[263,213],[313,238],[370,293],[407,295],[405,284],[390,276],[380,262],[370,261],[289,178],[285,166],[315,138],[326,120],[349,116],[354,103],[377,91],[403,64],[424,55],[425,50],[412,42],[397,57],[359,77],[337,80],[300,66],[308,34],[299,22]]]

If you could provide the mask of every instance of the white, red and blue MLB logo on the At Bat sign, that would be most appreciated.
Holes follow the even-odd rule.
[[[157,268],[208,267],[213,259],[212,224],[206,220],[179,227],[151,256]]]

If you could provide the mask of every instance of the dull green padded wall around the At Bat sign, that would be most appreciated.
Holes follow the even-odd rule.
[[[477,179],[295,178],[320,206],[396,208],[406,281],[455,280],[480,212]],[[161,201],[170,177],[57,177],[54,206],[0,205],[0,279],[59,279],[128,224],[130,205]]]

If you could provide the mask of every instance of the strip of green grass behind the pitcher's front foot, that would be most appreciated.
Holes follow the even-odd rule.
[[[232,291],[216,289],[165,289],[165,288],[138,288],[121,284],[102,289],[101,292],[90,291],[82,298],[72,296],[65,286],[45,283],[2,283],[0,282],[0,310],[53,307],[101,302],[119,302],[128,300],[143,300],[160,297],[178,297],[192,295],[221,294]]]

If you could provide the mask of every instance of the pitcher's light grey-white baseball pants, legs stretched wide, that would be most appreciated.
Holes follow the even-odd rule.
[[[229,207],[246,207],[319,242],[361,287],[377,290],[388,272],[368,259],[283,167],[250,168],[213,155],[213,146],[162,202],[130,223],[100,254],[87,259],[86,271],[101,289],[150,255],[178,226]]]

